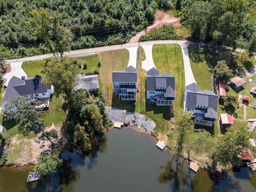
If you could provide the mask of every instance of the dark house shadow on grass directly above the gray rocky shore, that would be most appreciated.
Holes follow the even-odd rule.
[[[135,100],[119,100],[118,95],[112,94],[112,107],[123,109],[128,112],[135,111]]]

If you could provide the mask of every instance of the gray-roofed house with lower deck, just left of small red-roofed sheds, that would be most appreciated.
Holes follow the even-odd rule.
[[[200,91],[192,83],[185,87],[184,111],[193,112],[194,124],[212,126],[217,119],[218,96],[213,91]]]

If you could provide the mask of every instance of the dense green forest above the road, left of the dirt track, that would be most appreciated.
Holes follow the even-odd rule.
[[[155,18],[152,0],[0,0],[6,58],[121,44]]]

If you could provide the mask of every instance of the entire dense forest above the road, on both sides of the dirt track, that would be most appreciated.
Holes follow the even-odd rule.
[[[256,51],[255,0],[0,0],[0,52],[19,58],[122,44],[158,9],[181,18],[186,38]]]

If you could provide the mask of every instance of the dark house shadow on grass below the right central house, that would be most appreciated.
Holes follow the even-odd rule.
[[[170,106],[156,106],[154,104],[146,104],[146,112],[154,111],[154,114],[163,114],[165,120],[170,120],[173,116],[170,111]]]

